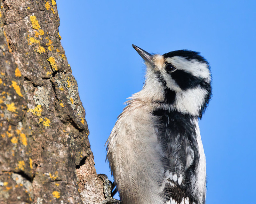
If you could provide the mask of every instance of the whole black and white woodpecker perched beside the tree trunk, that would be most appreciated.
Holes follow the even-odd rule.
[[[149,54],[146,81],[107,140],[123,204],[204,204],[206,163],[198,119],[211,98],[209,63],[199,52]]]

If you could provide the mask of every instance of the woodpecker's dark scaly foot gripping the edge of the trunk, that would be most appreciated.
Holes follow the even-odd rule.
[[[121,204],[120,200],[113,198],[113,187],[112,182],[108,179],[106,174],[98,174],[98,177],[101,178],[104,182],[104,196],[105,200],[103,200],[100,204]]]

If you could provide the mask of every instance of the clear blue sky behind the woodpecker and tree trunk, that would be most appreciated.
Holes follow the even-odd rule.
[[[207,204],[255,202],[256,1],[57,0],[61,43],[86,110],[97,173],[110,177],[104,144],[131,94],[143,60],[188,49],[210,62],[213,98],[200,121]]]

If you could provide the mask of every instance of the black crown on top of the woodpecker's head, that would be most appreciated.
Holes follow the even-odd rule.
[[[209,64],[208,61],[200,55],[200,52],[196,52],[196,51],[189,51],[189,50],[176,50],[176,51],[171,51],[168,53],[163,54],[164,58],[167,57],[174,57],[174,56],[181,56],[181,57],[185,57],[186,59],[197,59],[200,62],[204,62],[206,64]]]

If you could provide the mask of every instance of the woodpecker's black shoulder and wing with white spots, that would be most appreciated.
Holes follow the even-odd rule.
[[[199,153],[195,125],[191,118],[158,110],[158,147],[164,167],[163,196],[167,204],[197,203],[193,195]]]

